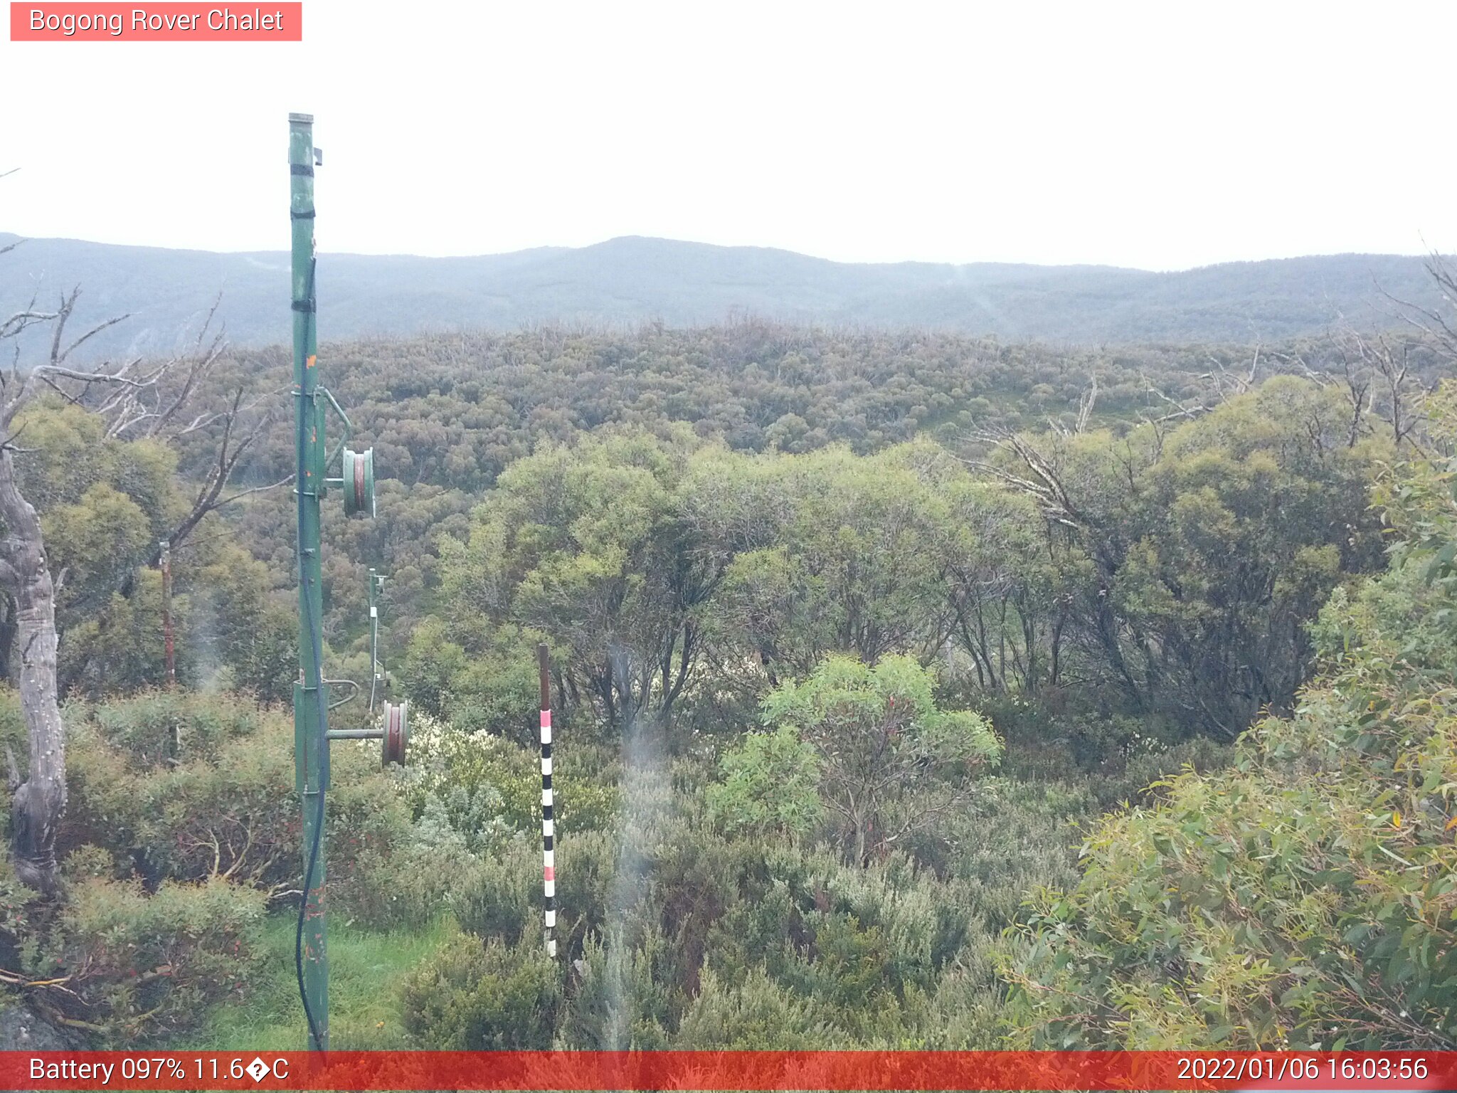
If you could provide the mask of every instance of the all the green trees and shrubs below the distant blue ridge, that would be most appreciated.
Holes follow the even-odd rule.
[[[1457,1045],[1441,340],[319,360],[380,475],[328,503],[326,675],[369,676],[376,567],[415,718],[404,771],[335,745],[337,1046]],[[6,988],[74,1043],[297,1046],[286,354],[200,345],[130,417],[54,380],[10,456],[70,803],[55,890],[3,867]],[[0,734],[13,791],[13,694]]]

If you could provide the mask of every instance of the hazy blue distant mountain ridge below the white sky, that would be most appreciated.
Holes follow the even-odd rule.
[[[0,233],[0,246],[16,236]],[[1391,296],[1437,306],[1425,259],[1326,255],[1182,273],[1101,265],[848,264],[759,246],[624,236],[476,258],[319,255],[328,340],[532,322],[756,315],[796,324],[930,326],[1075,344],[1273,341],[1390,325]],[[166,353],[194,337],[213,300],[229,341],[290,337],[287,252],[216,254],[28,239],[0,258],[0,309],[82,286],[76,322],[130,312],[96,338],[105,353]]]

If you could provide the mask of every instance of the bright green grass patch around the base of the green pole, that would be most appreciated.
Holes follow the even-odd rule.
[[[242,1004],[217,1008],[198,1048],[208,1051],[299,1051],[307,1030],[294,978],[291,914],[274,915],[264,931],[262,960]],[[329,1046],[373,1051],[411,1046],[399,1023],[399,982],[455,934],[440,918],[420,930],[329,930]]]

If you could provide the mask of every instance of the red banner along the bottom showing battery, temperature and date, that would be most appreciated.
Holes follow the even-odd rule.
[[[31,1090],[1416,1090],[1457,1052],[0,1052]]]

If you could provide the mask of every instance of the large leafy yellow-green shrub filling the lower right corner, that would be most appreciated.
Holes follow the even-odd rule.
[[[1421,538],[1327,603],[1294,714],[1106,818],[1081,879],[1034,893],[1004,956],[1020,1042],[1457,1043],[1457,472],[1406,474],[1389,516]]]

